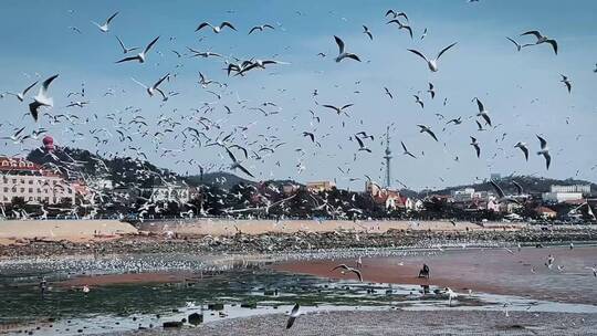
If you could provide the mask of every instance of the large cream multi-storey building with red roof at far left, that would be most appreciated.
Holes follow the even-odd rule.
[[[23,158],[0,157],[0,202],[22,198],[34,204],[75,202],[75,186],[62,176]]]

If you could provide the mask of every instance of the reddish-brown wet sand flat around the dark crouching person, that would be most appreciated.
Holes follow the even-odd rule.
[[[597,277],[585,267],[597,263],[597,248],[525,248],[470,249],[409,256],[363,258],[365,282],[437,285],[458,292],[483,292],[517,295],[534,300],[597,305]],[[552,270],[545,266],[547,255],[555,255]],[[312,274],[322,277],[356,280],[356,275],[343,275],[337,264],[356,266],[356,260],[294,261],[273,265],[277,271]],[[422,264],[429,265],[431,276],[418,279]],[[557,265],[564,266],[563,271]],[[534,272],[532,272],[534,269]]]

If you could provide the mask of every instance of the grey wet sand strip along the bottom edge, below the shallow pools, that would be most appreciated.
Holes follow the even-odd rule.
[[[331,312],[300,316],[232,318],[196,328],[151,329],[111,335],[596,335],[597,314],[463,311]]]

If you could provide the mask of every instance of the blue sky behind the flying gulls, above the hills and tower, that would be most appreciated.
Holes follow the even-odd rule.
[[[233,138],[235,144],[255,151],[260,146],[285,143],[271,156],[244,160],[243,165],[258,179],[310,181],[335,178],[342,187],[362,189],[363,180],[350,182],[349,179],[363,179],[364,175],[383,179],[385,145],[381,138],[386,127],[391,125],[394,177],[413,189],[470,182],[475,177],[486,178],[490,172],[597,180],[597,169],[593,169],[597,165],[594,154],[597,146],[594,132],[597,126],[596,1],[7,0],[0,6],[0,92],[20,92],[38,77],[43,80],[57,73],[60,77],[50,88],[54,107],[48,112],[81,118],[73,123],[50,124],[49,117],[42,116],[35,125],[30,116],[24,116],[27,104],[38,91],[34,87],[24,103],[13,96],[0,99],[2,136],[10,136],[14,128],[22,126],[28,127],[27,132],[44,127],[59,145],[97,150],[103,155],[124,153],[129,156],[135,153],[123,150],[127,146],[138,147],[154,164],[181,174],[199,171],[195,161],[188,164],[181,159],[195,159],[211,170],[227,169],[230,160],[221,148],[190,148],[189,144],[182,144],[180,135],[177,136],[186,126],[201,128],[185,118],[195,114],[219,125],[220,128],[206,130],[213,137],[220,132],[228,134],[235,126],[251,125],[244,133],[237,132]],[[390,8],[408,14],[415,33],[412,40],[405,30],[386,24],[384,14]],[[104,22],[116,11],[119,14],[108,33],[101,32],[90,22]],[[238,32],[224,30],[214,34],[207,29],[195,32],[202,21],[217,24],[224,20],[230,21]],[[274,25],[275,30],[248,35],[251,27],[264,23]],[[363,24],[370,29],[373,41],[363,33]],[[428,33],[421,40],[426,28]],[[505,36],[531,43],[533,38],[519,36],[527,30],[540,30],[556,39],[558,55],[548,44],[516,52]],[[115,35],[129,46],[144,46],[157,35],[160,40],[149,53],[147,63],[115,64],[123,57]],[[341,36],[347,51],[358,54],[363,62],[334,62],[337,55],[334,35]],[[407,51],[417,49],[433,55],[453,42],[458,44],[442,55],[437,73],[431,73],[421,59]],[[266,70],[251,71],[242,77],[228,77],[222,70],[222,60],[190,59],[185,54],[186,46],[218,52],[226,57],[274,59],[291,64],[269,65]],[[178,57],[172,50],[182,56]],[[320,52],[326,56],[318,56]],[[211,80],[228,84],[226,88],[208,87],[221,94],[221,99],[197,83],[199,71]],[[176,77],[163,84],[163,88],[179,94],[165,104],[157,96],[149,97],[132,81],[135,77],[150,84],[166,73],[176,74]],[[561,73],[570,78],[572,94],[559,82]],[[428,82],[436,86],[434,99],[427,93]],[[67,97],[67,93],[80,90],[82,83],[85,98]],[[394,99],[384,93],[384,87],[389,88]],[[114,95],[104,96],[108,90]],[[314,90],[318,93],[315,97]],[[425,109],[415,103],[415,94],[423,99]],[[490,111],[494,126],[498,125],[495,129],[476,130],[476,105],[471,102],[475,96]],[[77,99],[91,104],[84,108],[65,107]],[[237,104],[239,99],[248,102]],[[201,107],[203,102],[214,103],[211,105],[213,111],[207,114],[191,111]],[[265,117],[249,109],[263,107],[263,102],[275,103],[280,113]],[[347,117],[338,116],[316,102],[354,106],[347,109]],[[224,105],[233,113],[227,114]],[[142,111],[125,111],[127,106]],[[276,111],[272,106],[266,109]],[[321,123],[312,118],[310,109]],[[184,126],[167,134],[156,150],[150,137],[143,138],[136,127],[127,130],[133,143],[119,141],[115,133],[118,124],[106,118],[109,114],[122,117],[124,125],[136,115],[143,115],[151,135],[164,128],[157,126],[160,115],[171,116]],[[446,118],[440,119],[436,114]],[[447,120],[459,116],[463,120],[461,125],[446,126]],[[90,122],[84,123],[87,117]],[[417,124],[431,126],[439,143],[419,134]],[[106,127],[114,135],[107,144],[97,144],[90,134],[98,127]],[[302,136],[305,130],[316,135],[321,148]],[[367,140],[371,154],[357,151],[356,141],[348,140],[359,130],[376,136],[375,141]],[[548,171],[543,158],[535,155],[538,149],[536,134],[547,139],[552,150],[553,162]],[[469,145],[469,136],[476,137],[481,144],[480,159]],[[265,140],[266,137],[270,139]],[[417,155],[417,159],[401,155],[400,140]],[[528,144],[532,151],[528,162],[513,147],[517,141]],[[6,140],[2,151],[15,155],[38,147],[40,139],[30,139],[15,145]],[[184,151],[164,155],[165,148],[184,148]],[[399,187],[397,182],[395,186]]]

